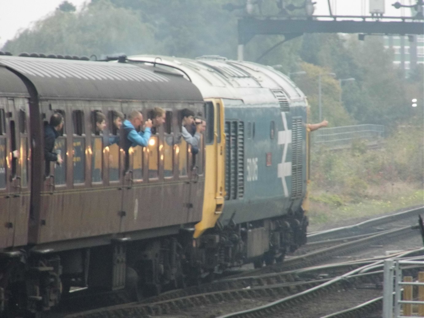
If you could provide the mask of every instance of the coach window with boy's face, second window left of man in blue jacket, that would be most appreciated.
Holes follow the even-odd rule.
[[[101,182],[103,179],[103,129],[106,116],[100,111],[91,113],[91,181]]]

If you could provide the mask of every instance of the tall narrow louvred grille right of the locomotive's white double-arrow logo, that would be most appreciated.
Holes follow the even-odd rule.
[[[293,199],[302,196],[302,118],[292,120],[292,195]]]

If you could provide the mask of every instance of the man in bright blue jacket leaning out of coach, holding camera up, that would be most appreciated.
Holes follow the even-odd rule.
[[[123,135],[124,135],[124,145],[123,149],[125,150],[125,168],[128,170],[129,167],[129,157],[128,150],[130,147],[135,147],[137,145],[146,147],[149,144],[149,139],[151,136],[151,127],[152,121],[150,119],[145,122],[144,131],[140,131],[140,128],[143,124],[143,115],[137,110],[133,110],[129,115],[128,119],[124,120],[122,124]]]

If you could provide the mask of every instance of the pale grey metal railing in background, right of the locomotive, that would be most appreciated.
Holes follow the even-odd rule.
[[[384,126],[364,124],[321,128],[311,137],[314,145],[325,145],[330,149],[349,147],[354,140],[368,140],[368,144],[378,145],[384,137]]]

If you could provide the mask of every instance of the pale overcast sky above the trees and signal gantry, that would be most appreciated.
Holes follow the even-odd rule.
[[[0,0],[0,47],[13,39],[20,30],[31,27],[33,22],[51,14],[64,0]],[[87,0],[68,0],[78,9]],[[154,0],[152,0],[154,1]],[[169,0],[172,1],[172,0]],[[202,0],[207,1],[207,0]],[[273,1],[273,0],[264,0]],[[315,0],[314,14],[329,14],[328,0]],[[332,13],[337,15],[368,15],[370,0],[329,0],[332,5]],[[384,1],[384,0],[372,0]],[[229,3],[240,3],[240,0],[229,0]],[[386,16],[404,15],[404,9],[395,9],[391,6],[396,0],[385,0]],[[414,4],[415,0],[399,0],[403,4]],[[290,3],[290,0],[285,0]]]

